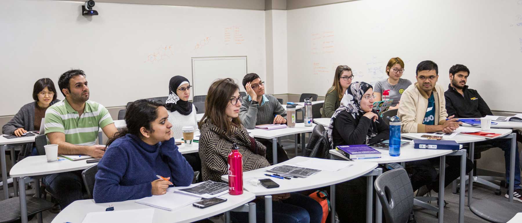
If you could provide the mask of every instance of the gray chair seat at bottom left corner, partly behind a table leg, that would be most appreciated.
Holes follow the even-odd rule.
[[[51,209],[53,203],[38,197],[27,197],[27,216]],[[0,222],[12,222],[20,219],[20,197],[0,201]]]

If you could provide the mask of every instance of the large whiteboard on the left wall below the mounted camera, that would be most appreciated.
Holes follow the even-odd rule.
[[[167,96],[176,75],[193,84],[193,57],[247,56],[248,71],[265,78],[265,11],[97,2],[100,15],[85,17],[84,4],[2,0],[0,116],[32,101],[35,81],[58,88],[71,68],[85,71],[90,100],[105,107]]]

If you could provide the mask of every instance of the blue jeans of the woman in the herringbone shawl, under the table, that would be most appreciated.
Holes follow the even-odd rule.
[[[256,222],[265,222],[265,200],[256,203]],[[248,222],[247,212],[231,212],[233,222]],[[272,202],[273,222],[281,223],[320,223],[323,218],[323,207],[309,196],[290,193],[287,200]]]

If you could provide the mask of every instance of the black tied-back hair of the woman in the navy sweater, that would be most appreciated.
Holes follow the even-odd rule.
[[[160,106],[165,107],[165,104],[149,99],[140,99],[129,105],[125,110],[125,123],[127,128],[114,134],[114,136],[107,141],[107,147],[109,147],[114,140],[125,137],[126,134],[133,134],[141,139],[143,137],[140,131],[141,127],[145,127],[145,129],[152,132],[151,123],[158,118],[157,110]]]

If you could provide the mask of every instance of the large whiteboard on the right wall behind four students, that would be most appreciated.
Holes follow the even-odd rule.
[[[325,95],[338,65],[353,81],[384,80],[400,57],[412,82],[420,61],[435,61],[445,90],[464,64],[491,109],[522,112],[522,0],[362,0],[288,10],[287,21],[289,93]]]

